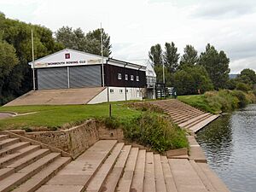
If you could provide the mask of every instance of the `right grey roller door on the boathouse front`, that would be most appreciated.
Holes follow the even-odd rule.
[[[69,67],[70,88],[102,86],[101,66]]]

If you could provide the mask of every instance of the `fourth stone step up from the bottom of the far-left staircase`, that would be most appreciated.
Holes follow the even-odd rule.
[[[8,166],[15,160],[19,160],[24,157],[26,154],[30,154],[40,148],[39,145],[29,145],[26,148],[20,148],[15,152],[15,154],[8,154],[2,158],[0,158],[0,167]]]

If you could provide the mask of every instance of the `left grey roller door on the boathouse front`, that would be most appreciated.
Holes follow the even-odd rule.
[[[38,90],[67,89],[67,67],[38,69]]]

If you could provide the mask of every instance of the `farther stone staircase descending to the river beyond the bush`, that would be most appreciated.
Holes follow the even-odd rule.
[[[176,99],[150,103],[163,109],[164,112],[170,115],[174,123],[193,132],[199,131],[202,127],[212,122],[212,120],[218,118],[218,115],[202,112]]]

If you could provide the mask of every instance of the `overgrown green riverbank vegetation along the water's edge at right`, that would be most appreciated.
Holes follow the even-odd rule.
[[[177,99],[205,112],[219,114],[256,103],[255,93],[241,90],[207,91],[204,95],[178,96]]]

